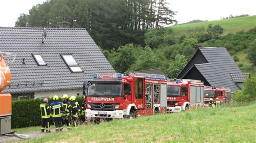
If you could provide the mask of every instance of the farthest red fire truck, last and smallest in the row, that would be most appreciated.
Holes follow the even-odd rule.
[[[220,103],[232,102],[234,93],[231,89],[220,87],[205,87],[204,104],[208,106],[210,99],[212,98],[213,104],[216,102],[216,98],[219,98]]]

